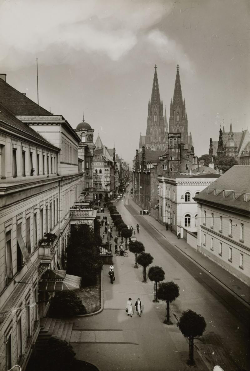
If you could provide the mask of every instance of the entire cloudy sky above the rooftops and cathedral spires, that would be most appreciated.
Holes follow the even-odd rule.
[[[248,0],[0,0],[0,73],[132,165],[154,65],[169,121],[177,63],[195,154],[250,130]]]

